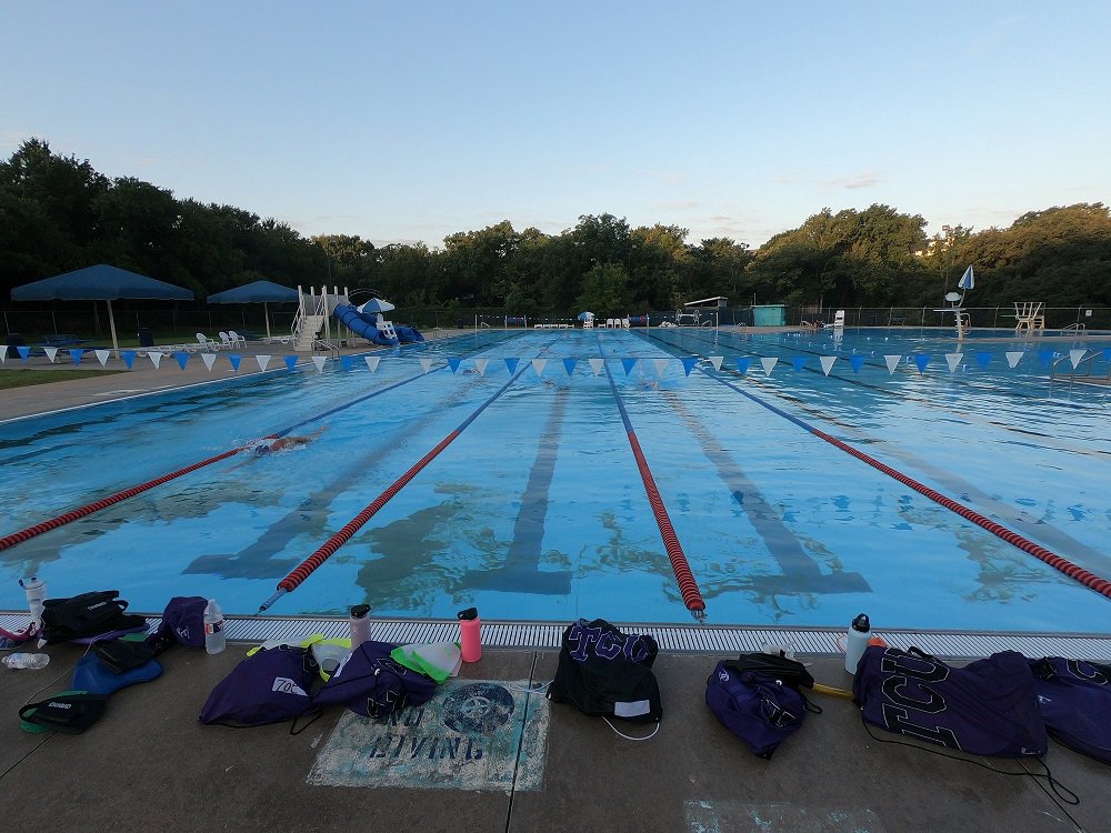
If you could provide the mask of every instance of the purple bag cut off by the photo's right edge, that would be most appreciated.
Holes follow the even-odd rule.
[[[1045,729],[1053,740],[1111,763],[1111,669],[1082,660],[1030,660]]]

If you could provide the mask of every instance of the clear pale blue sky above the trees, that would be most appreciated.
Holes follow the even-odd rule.
[[[1111,201],[1111,3],[0,0],[30,137],[304,235],[580,214],[759,245],[828,205]]]

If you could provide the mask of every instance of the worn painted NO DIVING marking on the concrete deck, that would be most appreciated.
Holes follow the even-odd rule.
[[[549,703],[527,680],[449,680],[383,721],[344,711],[309,784],[536,792],[548,757]],[[526,691],[522,691],[526,690]]]

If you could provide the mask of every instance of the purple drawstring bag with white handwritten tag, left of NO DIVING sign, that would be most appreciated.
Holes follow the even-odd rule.
[[[312,709],[309,686],[320,673],[312,652],[278,645],[251,654],[209,694],[201,723],[262,726]]]

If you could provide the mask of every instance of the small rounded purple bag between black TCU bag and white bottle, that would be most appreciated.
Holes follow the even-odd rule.
[[[771,760],[794,734],[808,711],[820,713],[799,686],[814,679],[801,662],[773,654],[741,654],[722,660],[705,681],[705,704],[718,721],[753,754]]]

